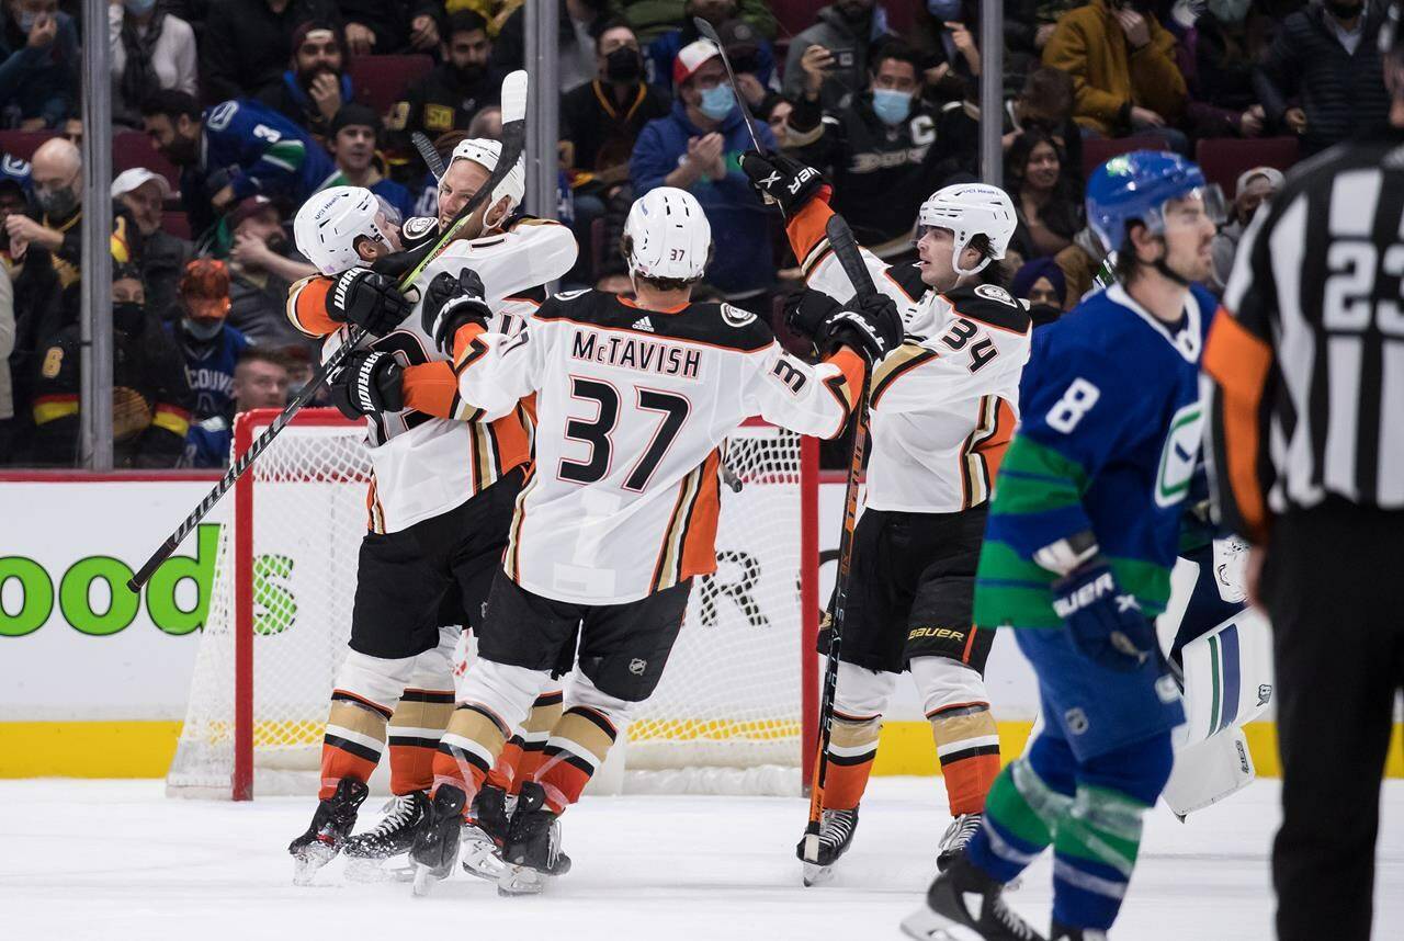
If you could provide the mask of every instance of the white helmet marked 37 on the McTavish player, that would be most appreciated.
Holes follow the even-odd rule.
[[[712,225],[691,192],[658,187],[633,201],[623,223],[629,272],[695,281],[712,254]]]

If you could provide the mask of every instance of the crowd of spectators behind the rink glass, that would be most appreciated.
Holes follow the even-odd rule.
[[[774,316],[799,268],[740,171],[753,135],[820,167],[890,263],[913,257],[929,192],[980,176],[977,0],[541,1],[559,8],[550,211],[581,244],[564,287],[629,291],[612,250],[628,208],[674,185],[712,223],[708,288]],[[446,152],[500,132],[525,6],[111,0],[112,133],[145,132],[161,159],[119,167],[110,194],[83,191],[74,146],[79,8],[4,3],[0,146],[48,139],[0,154],[0,465],[74,461],[83,206],[108,197],[119,462],[218,465],[233,414],[281,404],[317,358],[284,316],[313,271],[292,213],[337,184],[403,216],[441,212],[411,135]],[[1280,171],[1386,125],[1373,0],[1004,0],[1004,14],[998,119],[1019,218],[1007,277],[1039,322],[1070,310],[1106,254],[1082,218],[1104,154],[1164,147],[1207,169],[1214,145],[1241,145],[1219,171],[1233,201],[1213,247],[1221,291]],[[720,37],[754,126],[694,17]]]

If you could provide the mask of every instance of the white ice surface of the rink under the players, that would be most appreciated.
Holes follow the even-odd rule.
[[[159,781],[0,781],[0,938],[899,938],[948,822],[938,789],[875,779],[854,848],[823,888],[799,885],[802,801],[591,798],[563,820],[574,871],[548,895],[500,899],[456,874],[414,899],[404,883],[348,883],[340,861],[295,888],[285,847],[309,801],[174,801]],[[1276,798],[1275,782],[1259,782],[1188,824],[1157,809],[1113,938],[1271,940]],[[378,809],[366,802],[362,820]],[[1043,930],[1047,879],[1045,858],[1011,899]],[[1386,789],[1375,924],[1376,938],[1404,937],[1404,782]]]

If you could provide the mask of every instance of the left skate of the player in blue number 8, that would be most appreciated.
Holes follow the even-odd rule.
[[[1004,886],[977,869],[963,853],[936,876],[927,903],[901,921],[918,941],[1045,941],[1004,904]]]

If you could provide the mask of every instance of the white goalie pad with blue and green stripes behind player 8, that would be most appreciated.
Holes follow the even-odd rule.
[[[1272,699],[1272,628],[1245,608],[1181,650],[1185,725],[1175,730],[1182,750],[1262,715]]]

